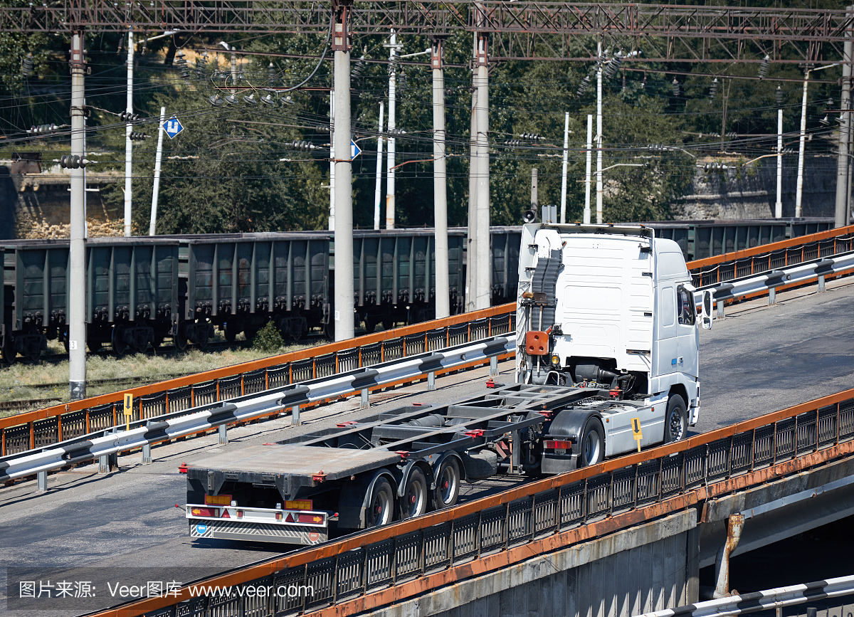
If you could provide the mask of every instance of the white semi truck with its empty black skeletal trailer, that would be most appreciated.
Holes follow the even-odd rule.
[[[190,536],[318,544],[332,525],[453,506],[463,480],[593,465],[635,450],[638,432],[640,446],[686,436],[711,296],[698,320],[676,243],[645,226],[530,224],[519,280],[517,383],[196,461]]]

